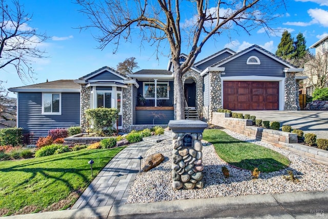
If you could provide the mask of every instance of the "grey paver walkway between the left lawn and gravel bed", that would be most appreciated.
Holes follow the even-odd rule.
[[[158,137],[156,137],[158,138]],[[139,156],[155,142],[141,141],[121,150],[91,182],[72,209],[125,204],[129,189],[139,172]]]

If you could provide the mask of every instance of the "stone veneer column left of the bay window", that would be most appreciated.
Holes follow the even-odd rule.
[[[80,93],[80,127],[81,132],[86,133],[88,128],[88,120],[86,118],[85,111],[90,108],[90,87],[86,87],[86,84],[81,84]]]

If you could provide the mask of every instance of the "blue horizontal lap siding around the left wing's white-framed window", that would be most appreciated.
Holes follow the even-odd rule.
[[[42,115],[42,93],[18,93],[18,127],[34,137],[47,136],[49,129],[80,125],[80,94],[61,93],[61,115]]]

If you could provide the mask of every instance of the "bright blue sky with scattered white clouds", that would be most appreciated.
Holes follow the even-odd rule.
[[[116,69],[118,62],[135,57],[139,69],[167,69],[168,54],[159,55],[156,59],[155,49],[135,40],[123,43],[113,54],[114,47],[97,49],[99,43],[93,38],[95,30],[78,29],[89,24],[87,17],[78,11],[79,6],[70,0],[19,0],[24,11],[32,16],[29,26],[39,33],[46,33],[49,39],[40,45],[46,51],[47,58],[36,59],[33,69],[33,80],[21,81],[13,69],[0,70],[0,80],[6,81],[4,87],[18,87],[47,80],[78,79],[104,66]],[[302,33],[309,48],[315,42],[328,35],[328,1],[327,0],[285,0],[286,8],[277,12],[279,17],[274,20],[272,28],[288,30],[295,39]],[[191,18],[189,18],[191,19]],[[186,18],[185,22],[188,19]],[[222,36],[216,41],[208,41],[197,60],[206,58],[224,48],[235,52],[246,49],[254,44],[275,53],[281,40],[281,33],[268,35],[263,29],[256,29],[248,35],[245,32]],[[168,51],[164,48],[163,51]],[[182,51],[182,53],[187,51]],[[310,49],[314,53],[314,49]],[[196,60],[196,61],[197,61]],[[10,97],[16,94],[9,93]]]

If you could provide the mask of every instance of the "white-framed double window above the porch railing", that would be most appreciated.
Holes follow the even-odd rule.
[[[157,83],[156,94],[157,99],[169,98],[168,83]],[[155,98],[155,83],[144,82],[144,97],[146,99]]]

